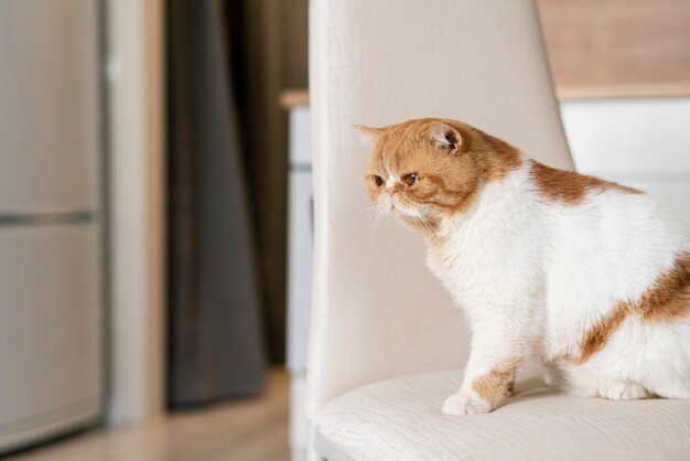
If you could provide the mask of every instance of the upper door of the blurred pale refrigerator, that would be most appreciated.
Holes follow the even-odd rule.
[[[97,4],[0,1],[0,213],[97,204]]]

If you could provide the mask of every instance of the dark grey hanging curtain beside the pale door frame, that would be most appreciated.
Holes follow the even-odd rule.
[[[255,242],[218,0],[169,2],[169,403],[258,392]]]

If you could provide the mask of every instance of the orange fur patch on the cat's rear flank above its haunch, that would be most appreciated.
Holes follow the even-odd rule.
[[[629,314],[650,322],[672,322],[690,315],[690,253],[676,258],[673,267],[657,278],[639,300],[618,303],[613,313],[590,330],[576,362],[582,364],[601,351]]]

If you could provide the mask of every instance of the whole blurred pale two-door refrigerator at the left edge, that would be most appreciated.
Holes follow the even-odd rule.
[[[101,415],[99,22],[0,1],[0,453]]]

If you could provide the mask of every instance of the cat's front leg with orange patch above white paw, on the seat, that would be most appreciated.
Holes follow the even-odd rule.
[[[462,387],[446,398],[443,414],[476,415],[498,408],[510,394],[525,355],[522,342],[517,339],[490,332],[475,334]]]

